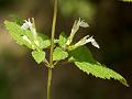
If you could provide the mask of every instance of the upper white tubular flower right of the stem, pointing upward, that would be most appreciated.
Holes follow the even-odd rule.
[[[68,41],[66,42],[66,45],[69,45],[73,42],[73,38],[80,26],[88,28],[89,25],[87,22],[85,22],[85,20],[80,20],[80,18],[78,21],[75,21],[73,29],[72,29],[72,32],[70,32],[70,35],[68,37]]]

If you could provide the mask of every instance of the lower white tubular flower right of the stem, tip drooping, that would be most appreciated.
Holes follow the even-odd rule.
[[[85,36],[84,38],[81,38],[78,43],[76,43],[74,46],[78,47],[78,46],[82,46],[87,43],[91,43],[95,47],[100,48],[99,44],[95,41],[95,38],[91,36],[89,37],[89,35]]]

